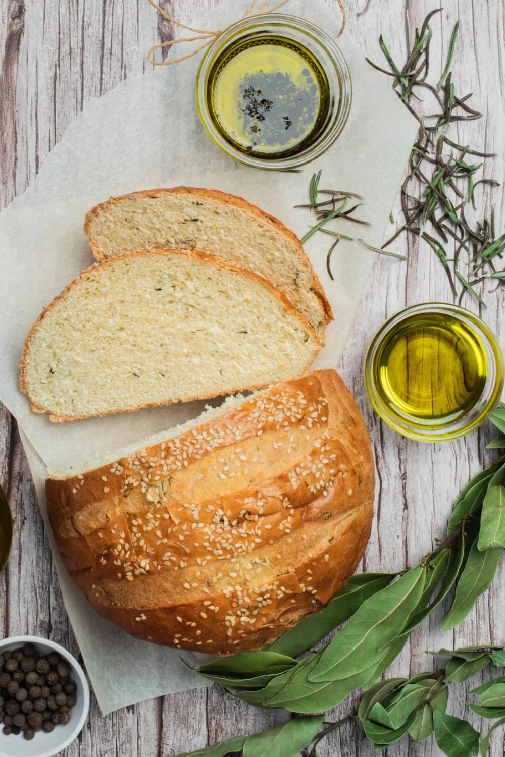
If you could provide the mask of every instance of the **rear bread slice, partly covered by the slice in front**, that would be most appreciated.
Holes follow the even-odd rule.
[[[264,276],[316,331],[332,321],[301,242],[242,198],[191,187],[133,192],[92,208],[84,231],[97,260],[149,248],[204,250]]]

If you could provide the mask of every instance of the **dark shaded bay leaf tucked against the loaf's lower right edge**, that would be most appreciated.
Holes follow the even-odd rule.
[[[330,631],[351,618],[365,600],[391,584],[394,573],[358,573],[351,576],[321,612],[307,615],[265,650],[295,657],[315,646]]]

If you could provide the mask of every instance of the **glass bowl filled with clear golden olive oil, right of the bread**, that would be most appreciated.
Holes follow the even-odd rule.
[[[416,441],[448,441],[479,426],[503,390],[503,354],[485,323],[462,307],[407,307],[379,329],[365,359],[376,412]]]

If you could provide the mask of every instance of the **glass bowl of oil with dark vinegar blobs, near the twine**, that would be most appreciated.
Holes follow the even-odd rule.
[[[210,139],[248,166],[289,170],[314,160],[341,134],[351,73],[318,26],[285,14],[247,18],[210,45],[196,101]]]

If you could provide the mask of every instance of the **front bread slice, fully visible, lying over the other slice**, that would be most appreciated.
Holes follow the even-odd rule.
[[[198,251],[87,269],[26,338],[20,388],[55,422],[260,388],[322,347],[270,282]]]

